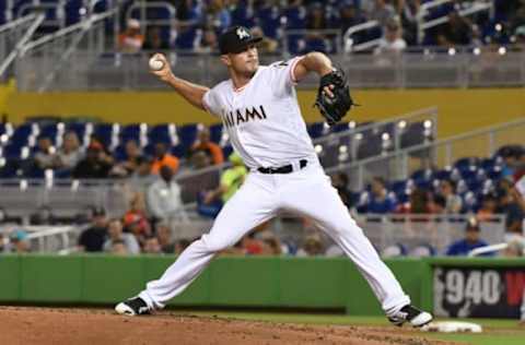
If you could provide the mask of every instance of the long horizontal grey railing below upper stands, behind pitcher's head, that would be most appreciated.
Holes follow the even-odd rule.
[[[23,92],[38,91],[45,75],[65,50],[58,43],[43,46],[16,61],[16,80]],[[203,85],[228,79],[219,57],[208,53],[165,51],[174,73]],[[166,90],[149,73],[152,51],[136,55],[77,50],[66,62],[70,68],[56,71],[48,91]],[[57,56],[60,55],[60,56]],[[421,48],[400,55],[334,55],[335,63],[347,71],[351,87],[478,87],[524,86],[525,50],[518,47]],[[268,64],[285,57],[261,56]],[[308,74],[298,87],[315,88],[318,78]]]

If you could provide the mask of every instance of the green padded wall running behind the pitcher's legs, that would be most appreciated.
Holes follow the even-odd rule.
[[[151,255],[2,255],[0,302],[112,305],[136,295],[173,260],[174,257]],[[463,261],[399,259],[386,262],[412,301],[431,310],[433,265]],[[524,263],[474,262],[483,266]],[[340,308],[351,314],[381,314],[366,282],[345,258],[219,258],[171,305]]]

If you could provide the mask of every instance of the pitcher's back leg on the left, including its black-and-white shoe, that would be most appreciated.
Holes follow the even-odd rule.
[[[163,308],[197,278],[217,252],[235,245],[246,233],[273,217],[275,193],[266,188],[264,179],[265,177],[260,176],[248,177],[223,206],[210,233],[202,235],[183,251],[161,278],[148,283],[138,298],[117,305],[116,311],[122,314],[139,314]]]

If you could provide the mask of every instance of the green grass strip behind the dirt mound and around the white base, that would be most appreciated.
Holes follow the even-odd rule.
[[[299,313],[268,313],[268,312],[185,312],[194,316],[217,316],[219,318],[288,322],[312,324],[351,324],[351,325],[387,325],[388,321],[382,317],[351,317],[342,314],[299,314]],[[445,320],[438,320],[445,321]],[[457,320],[456,320],[457,321]],[[445,334],[418,332],[419,336],[443,341],[459,342],[472,345],[525,345],[525,326],[520,326],[517,320],[492,319],[462,319],[460,321],[481,324],[483,333],[480,334]]]

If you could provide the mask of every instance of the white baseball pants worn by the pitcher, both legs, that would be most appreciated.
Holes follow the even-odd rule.
[[[214,254],[235,245],[280,209],[313,218],[355,263],[387,316],[410,299],[390,270],[381,261],[362,229],[351,218],[322,167],[310,164],[291,174],[250,172],[224,205],[209,234],[192,242],[158,281],[147,284],[140,297],[154,309],[180,294]]]

